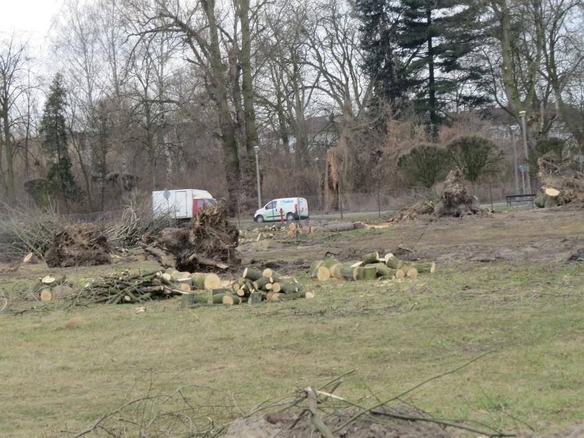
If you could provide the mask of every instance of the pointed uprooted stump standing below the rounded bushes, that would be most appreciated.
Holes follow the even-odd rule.
[[[440,200],[434,208],[434,215],[463,217],[476,215],[480,207],[474,203],[474,196],[467,193],[463,184],[461,169],[454,169],[448,173]]]

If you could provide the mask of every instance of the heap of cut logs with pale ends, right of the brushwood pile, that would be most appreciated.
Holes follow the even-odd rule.
[[[314,298],[314,293],[304,290],[304,285],[295,278],[287,279],[273,269],[256,269],[247,267],[240,278],[236,279],[231,289],[213,291],[213,303],[257,304],[268,301],[295,300],[297,298]]]

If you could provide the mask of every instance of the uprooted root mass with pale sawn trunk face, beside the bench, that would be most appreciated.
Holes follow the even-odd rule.
[[[584,173],[571,169],[553,152],[539,157],[537,167],[537,178],[544,189],[544,193],[534,201],[538,207],[584,201]]]

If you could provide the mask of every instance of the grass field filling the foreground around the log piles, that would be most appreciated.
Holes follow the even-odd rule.
[[[372,232],[402,239],[391,228]],[[563,231],[583,232],[578,221]],[[343,234],[343,244],[363,233]],[[295,248],[290,260],[302,256]],[[156,269],[134,261],[63,271],[73,281],[126,267]],[[108,420],[115,436],[198,436],[147,425],[189,406],[191,430],[210,430],[344,374],[335,394],[365,406],[416,387],[402,400],[507,432],[584,418],[583,263],[459,260],[402,282],[316,282],[297,271],[314,300],[185,309],[172,299],[141,313],[19,301],[46,271],[1,277],[11,308],[27,309],[0,315],[2,438],[71,437],[134,400]],[[130,432],[136,424],[144,435]],[[87,436],[99,433],[108,436]]]

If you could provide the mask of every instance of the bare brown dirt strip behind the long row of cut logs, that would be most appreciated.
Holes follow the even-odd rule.
[[[341,261],[363,254],[393,252],[404,260],[436,263],[565,261],[584,247],[584,208],[509,210],[461,218],[420,216],[414,221],[372,226],[358,235],[329,233],[240,245],[244,263],[277,263],[282,271],[302,270],[334,248]],[[337,239],[334,239],[334,238]]]

